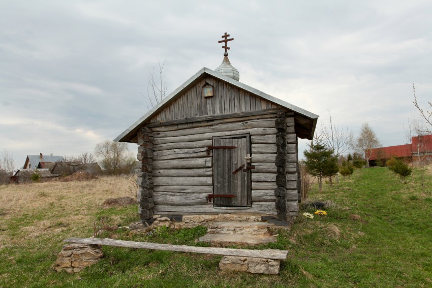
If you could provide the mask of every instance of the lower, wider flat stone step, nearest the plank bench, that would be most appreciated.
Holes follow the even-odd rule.
[[[253,235],[253,234],[241,234],[241,235],[229,235],[229,234],[207,234],[204,235],[195,242],[206,242],[211,243],[213,246],[230,246],[230,245],[259,245],[267,244],[270,242],[276,242],[275,236],[270,235]]]

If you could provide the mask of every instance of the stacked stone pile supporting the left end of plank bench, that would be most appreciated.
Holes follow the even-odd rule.
[[[55,271],[68,273],[81,272],[84,267],[98,263],[104,253],[98,245],[90,244],[66,244],[58,253],[55,261]]]

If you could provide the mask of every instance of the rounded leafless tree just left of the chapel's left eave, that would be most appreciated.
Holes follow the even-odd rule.
[[[123,142],[105,140],[96,144],[95,155],[100,165],[109,175],[130,174],[136,160],[129,152],[128,145]]]

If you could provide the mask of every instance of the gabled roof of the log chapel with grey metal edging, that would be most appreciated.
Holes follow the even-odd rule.
[[[140,119],[138,119],[135,123],[133,123],[127,130],[125,130],[123,133],[121,133],[119,136],[117,136],[114,141],[119,141],[119,142],[130,142],[131,139],[133,139],[136,136],[136,133],[139,129],[139,127],[141,127],[144,123],[146,123],[149,119],[151,119],[152,116],[154,116],[155,114],[157,114],[160,110],[162,110],[164,107],[166,107],[174,98],[177,97],[177,95],[181,94],[184,90],[188,89],[190,86],[192,86],[198,79],[206,76],[206,75],[210,75],[213,76],[214,78],[218,78],[222,81],[228,82],[240,89],[243,89],[245,91],[248,91],[252,94],[257,95],[258,97],[261,97],[265,100],[268,100],[270,102],[273,102],[277,105],[280,105],[282,107],[285,107],[289,110],[291,110],[292,112],[294,112],[295,114],[302,116],[304,118],[310,119],[312,120],[312,125],[310,125],[312,127],[312,129],[310,129],[310,131],[308,131],[308,137],[307,139],[312,139],[312,136],[314,135],[315,132],[315,126],[317,124],[317,120],[318,120],[318,115],[306,111],[300,107],[297,107],[295,105],[289,104],[281,99],[277,99],[272,97],[271,95],[264,93],[258,89],[255,89],[251,86],[248,86],[246,84],[240,83],[232,78],[229,78],[227,76],[224,76],[222,74],[219,74],[218,72],[215,72],[211,69],[208,68],[202,68],[200,71],[198,71],[194,76],[192,76],[191,78],[189,78],[189,80],[187,80],[186,82],[184,82],[183,84],[181,84],[177,89],[175,89],[171,94],[169,94],[167,97],[165,97],[158,105],[156,105],[155,107],[153,107],[150,111],[148,111],[147,113],[144,114],[144,116],[142,116]],[[310,134],[310,135],[309,135]]]

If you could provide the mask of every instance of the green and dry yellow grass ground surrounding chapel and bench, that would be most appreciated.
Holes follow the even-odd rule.
[[[256,249],[288,249],[279,275],[219,269],[220,256],[103,247],[101,262],[78,274],[56,273],[56,254],[68,237],[88,237],[94,221],[126,226],[138,219],[135,205],[103,209],[109,197],[128,196],[127,179],[0,186],[0,287],[422,287],[432,286],[432,168],[402,183],[386,168],[362,169],[332,187],[314,186],[311,200],[334,203],[302,216],[276,243]],[[302,212],[315,210],[302,206]],[[196,245],[205,228],[150,235],[126,229],[101,237]]]

